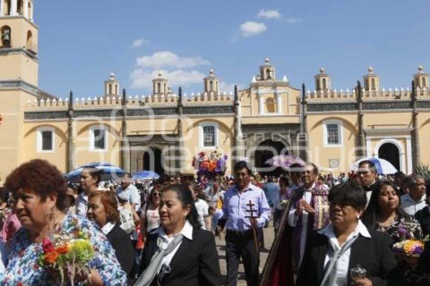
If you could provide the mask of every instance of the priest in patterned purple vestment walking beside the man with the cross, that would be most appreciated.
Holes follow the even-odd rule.
[[[290,197],[288,225],[292,227],[291,253],[294,273],[298,273],[305,252],[306,237],[329,223],[328,187],[317,181],[318,168],[307,163],[301,173],[303,185]]]

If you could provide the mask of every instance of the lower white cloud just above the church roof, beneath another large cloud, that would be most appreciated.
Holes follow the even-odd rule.
[[[135,69],[130,78],[132,79],[133,88],[148,88],[152,91],[152,80],[158,77],[158,73],[168,80],[169,86],[190,85],[193,83],[202,83],[205,75],[199,71],[186,70],[153,70],[145,71],[142,68]]]

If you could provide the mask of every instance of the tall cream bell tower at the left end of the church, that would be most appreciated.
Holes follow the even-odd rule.
[[[0,177],[23,162],[24,110],[37,98],[38,27],[33,22],[33,0],[0,0]],[[34,147],[35,148],[35,147]]]

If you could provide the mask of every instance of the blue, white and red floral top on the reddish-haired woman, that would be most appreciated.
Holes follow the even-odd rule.
[[[82,231],[89,235],[89,240],[94,246],[95,255],[88,266],[99,272],[104,285],[127,284],[126,274],[116,259],[115,251],[95,223],[88,219],[68,214],[63,220],[61,230],[68,233]],[[37,264],[37,258],[42,253],[42,244],[31,243],[28,238],[28,230],[21,228],[11,240],[9,264],[6,272],[0,274],[0,284],[18,286],[60,285],[60,274],[55,275]],[[84,282],[74,284],[84,285]]]

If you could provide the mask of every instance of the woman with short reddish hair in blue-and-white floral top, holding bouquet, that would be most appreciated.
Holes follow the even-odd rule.
[[[22,227],[12,237],[10,260],[0,278],[2,285],[61,284],[61,275],[49,265],[40,265],[43,242],[59,233],[82,233],[89,237],[94,256],[85,265],[88,273],[74,277],[74,283],[124,285],[122,271],[106,236],[87,218],[66,214],[66,182],[60,171],[45,160],[20,165],[6,179],[14,209]]]

